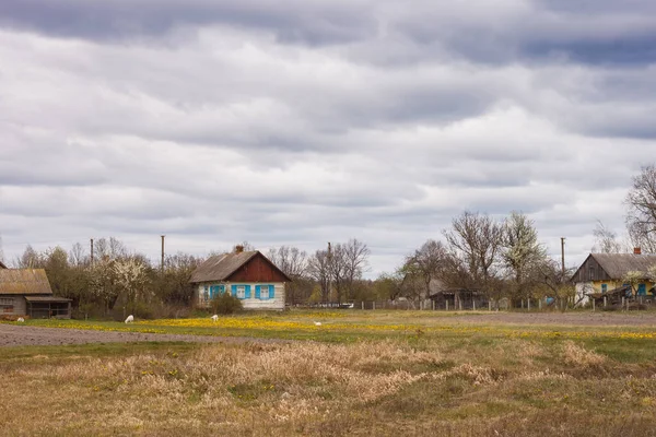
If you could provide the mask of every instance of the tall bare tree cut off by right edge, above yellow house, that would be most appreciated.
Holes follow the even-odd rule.
[[[635,247],[656,252],[656,167],[643,167],[626,194],[626,228]]]

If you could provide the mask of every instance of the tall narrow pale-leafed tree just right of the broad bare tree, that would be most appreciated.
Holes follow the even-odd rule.
[[[535,224],[525,214],[513,211],[503,224],[503,264],[513,277],[516,293],[527,293],[528,271],[531,265],[547,258],[547,250],[538,241]]]

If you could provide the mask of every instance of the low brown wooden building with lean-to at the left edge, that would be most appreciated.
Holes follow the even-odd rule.
[[[52,296],[43,269],[0,269],[0,317],[71,317],[71,299]]]

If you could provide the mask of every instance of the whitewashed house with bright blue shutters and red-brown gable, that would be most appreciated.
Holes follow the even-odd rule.
[[[191,274],[194,303],[209,308],[224,293],[236,296],[245,309],[283,310],[285,284],[292,280],[260,251],[244,251],[209,258]]]

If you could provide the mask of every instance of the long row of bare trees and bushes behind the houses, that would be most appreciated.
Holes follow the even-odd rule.
[[[656,252],[654,166],[633,178],[625,204],[625,240],[598,222],[593,251],[629,251],[634,246]],[[254,249],[248,243],[243,246]],[[281,246],[265,255],[293,280],[286,288],[290,305],[401,297],[419,303],[444,288],[476,290],[493,299],[573,295],[569,281],[573,269],[548,256],[535,223],[522,212],[500,218],[465,211],[442,229],[440,238],[427,239],[394,271],[375,280],[364,279],[371,250],[356,238],[328,244],[313,253]],[[164,265],[153,264],[119,239],[101,238],[95,241],[93,262],[85,246],[75,243],[69,250],[55,247],[42,252],[27,246],[13,264],[45,269],[54,293],[73,299],[80,312],[107,315],[118,307],[144,316],[149,311],[171,316],[192,306],[189,279],[203,261],[177,252],[166,256]]]

